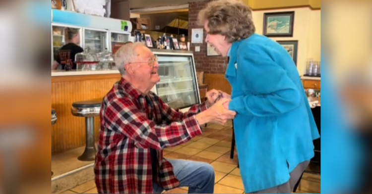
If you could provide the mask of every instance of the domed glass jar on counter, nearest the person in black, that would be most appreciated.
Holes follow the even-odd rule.
[[[75,55],[76,69],[82,71],[99,70],[99,60],[97,54],[90,52],[89,48],[85,48],[84,52]]]

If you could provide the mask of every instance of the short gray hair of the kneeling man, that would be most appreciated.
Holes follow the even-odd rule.
[[[137,56],[135,50],[140,46],[144,47],[143,43],[127,43],[115,53],[115,64],[121,75],[125,74],[125,64],[132,62]]]

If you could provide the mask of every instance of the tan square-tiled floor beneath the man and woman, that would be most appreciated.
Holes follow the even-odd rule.
[[[215,194],[243,194],[243,183],[237,168],[237,157],[230,159],[231,123],[208,125],[203,136],[177,147],[167,148],[165,158],[187,159],[210,163],[216,173]],[[166,194],[187,194],[187,188],[177,188]],[[320,176],[304,174],[297,193],[320,193]],[[63,194],[97,194],[94,181],[88,181]]]

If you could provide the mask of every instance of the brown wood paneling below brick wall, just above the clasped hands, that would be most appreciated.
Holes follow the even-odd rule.
[[[216,89],[231,94],[231,86],[225,74],[204,74],[204,84],[208,85],[209,90]]]

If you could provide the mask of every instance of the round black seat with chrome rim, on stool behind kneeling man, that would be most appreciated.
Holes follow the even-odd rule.
[[[78,117],[95,117],[99,116],[101,109],[101,100],[86,100],[73,102],[71,113]]]

